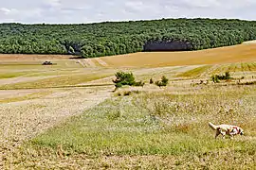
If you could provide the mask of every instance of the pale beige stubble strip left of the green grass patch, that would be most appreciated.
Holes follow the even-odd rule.
[[[109,87],[59,89],[43,98],[1,104],[0,169],[5,167],[17,146],[66,118],[101,103],[110,94]]]

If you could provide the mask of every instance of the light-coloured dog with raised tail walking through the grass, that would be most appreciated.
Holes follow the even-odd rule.
[[[209,123],[209,127],[213,130],[216,130],[215,139],[221,134],[222,138],[225,139],[226,135],[230,136],[230,139],[233,139],[235,135],[244,135],[244,130],[241,127],[232,126],[232,125],[214,125]]]

